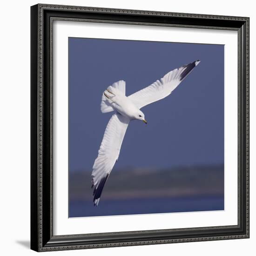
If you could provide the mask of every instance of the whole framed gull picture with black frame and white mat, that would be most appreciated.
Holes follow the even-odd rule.
[[[249,18],[31,7],[31,249],[249,238]]]

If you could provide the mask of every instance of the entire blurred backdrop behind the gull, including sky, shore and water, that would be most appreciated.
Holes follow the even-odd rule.
[[[69,217],[224,209],[224,46],[69,38]],[[201,63],[167,98],[131,121],[120,156],[93,205],[91,171],[113,113],[102,92],[126,94],[176,67]]]

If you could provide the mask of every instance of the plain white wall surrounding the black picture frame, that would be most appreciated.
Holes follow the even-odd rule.
[[[250,17],[251,52],[251,232],[250,239],[178,243],[126,248],[91,249],[52,252],[55,255],[252,255],[255,249],[256,232],[253,215],[255,213],[256,182],[255,161],[255,36],[256,14],[253,0],[243,1],[139,1],[139,0],[48,0],[49,4],[66,4],[94,7],[112,7],[142,10],[157,10],[181,13],[205,13]],[[1,2],[0,39],[0,241],[1,255],[30,255],[30,6],[36,0]],[[253,144],[254,143],[254,144]]]

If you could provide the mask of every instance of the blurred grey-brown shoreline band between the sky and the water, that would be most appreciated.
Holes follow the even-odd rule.
[[[224,165],[113,170],[102,200],[224,195]],[[69,200],[91,200],[89,171],[69,173]]]

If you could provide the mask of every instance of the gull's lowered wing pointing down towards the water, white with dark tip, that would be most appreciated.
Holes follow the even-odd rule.
[[[92,188],[94,189],[94,205],[98,205],[102,189],[118,159],[121,144],[129,124],[129,119],[115,113],[108,121],[98,157],[94,161],[92,172]]]

